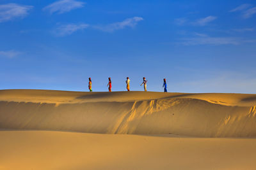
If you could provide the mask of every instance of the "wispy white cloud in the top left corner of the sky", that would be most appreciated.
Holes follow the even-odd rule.
[[[19,5],[15,3],[0,5],[0,22],[6,22],[13,18],[24,18],[33,6]]]

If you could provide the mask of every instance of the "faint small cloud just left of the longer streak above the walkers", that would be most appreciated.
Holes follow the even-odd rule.
[[[88,24],[67,24],[67,25],[60,25],[60,27],[56,30],[57,36],[67,36],[72,34],[73,32],[83,30],[89,27]]]

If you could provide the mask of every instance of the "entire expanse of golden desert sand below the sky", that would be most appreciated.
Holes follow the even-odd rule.
[[[0,90],[0,169],[255,169],[256,95]]]

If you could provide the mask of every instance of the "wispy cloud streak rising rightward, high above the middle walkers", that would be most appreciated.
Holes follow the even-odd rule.
[[[106,32],[113,32],[118,29],[124,29],[125,27],[135,27],[138,22],[143,20],[141,17],[133,17],[133,18],[127,18],[122,22],[115,22],[113,24],[108,24],[104,26],[93,26],[94,29],[99,29],[101,31]]]

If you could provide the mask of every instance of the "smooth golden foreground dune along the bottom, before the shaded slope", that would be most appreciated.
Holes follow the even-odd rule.
[[[0,131],[0,169],[255,169],[256,139]]]

